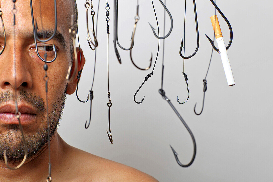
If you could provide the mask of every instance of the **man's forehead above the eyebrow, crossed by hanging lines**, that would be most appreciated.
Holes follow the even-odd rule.
[[[40,4],[41,2],[41,4]],[[71,14],[73,13],[73,4],[71,0],[57,1],[57,30],[69,36],[68,29],[71,25]],[[41,31],[41,20],[45,30],[52,30],[55,27],[54,0],[32,0],[34,21],[37,20],[38,28]],[[31,9],[29,0],[17,0],[16,7],[16,29],[20,31],[33,31],[31,20]],[[13,29],[13,10],[12,0],[1,1],[1,10],[3,12],[3,21],[5,29]],[[40,14],[41,13],[41,14]],[[67,40],[68,41],[68,40]]]

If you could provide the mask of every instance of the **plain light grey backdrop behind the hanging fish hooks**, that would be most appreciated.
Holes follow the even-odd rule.
[[[79,10],[79,33],[81,48],[86,63],[79,84],[79,97],[84,100],[91,88],[94,68],[94,51],[86,41],[85,1],[77,1]],[[97,15],[97,0],[94,10]],[[137,65],[149,65],[150,52],[153,63],[157,51],[157,39],[148,24],[156,27],[151,1],[140,0],[139,16],[135,35],[133,58]],[[154,0],[163,34],[164,8]],[[136,69],[130,61],[129,51],[118,47],[122,64],[118,64],[113,48],[113,1],[110,6],[109,74],[111,92],[111,130],[114,144],[111,145],[108,130],[107,96],[107,33],[105,1],[100,1],[97,39],[96,75],[91,125],[84,128],[89,119],[90,101],[81,103],[76,95],[69,95],[58,132],[70,145],[116,162],[129,165],[152,175],[159,181],[272,181],[272,2],[271,1],[216,1],[229,19],[233,28],[233,43],[228,55],[235,78],[235,86],[229,87],[225,78],[220,55],[214,51],[207,77],[207,92],[203,113],[193,112],[197,102],[200,111],[211,45],[205,33],[213,38],[210,16],[214,7],[209,0],[197,0],[197,17],[200,46],[197,54],[185,60],[190,98],[185,104],[176,102],[186,99],[186,82],[182,75],[183,59],[179,56],[185,1],[167,1],[166,6],[173,16],[171,35],[165,39],[164,90],[194,133],[197,154],[188,168],[177,165],[170,144],[179,154],[182,163],[192,157],[191,137],[177,118],[167,101],[158,93],[161,83],[162,45],[154,75],[144,84],[136,104],[133,96],[151,72]],[[130,46],[134,25],[136,1],[119,1],[119,40]],[[216,11],[217,12],[217,11]],[[186,55],[196,46],[196,32],[192,1],[186,10]],[[227,45],[229,29],[218,14],[220,26]],[[90,16],[91,17],[91,16]],[[91,18],[90,18],[91,20]],[[91,23],[91,22],[90,22]],[[91,24],[90,24],[91,25]],[[166,14],[166,32],[170,19]]]

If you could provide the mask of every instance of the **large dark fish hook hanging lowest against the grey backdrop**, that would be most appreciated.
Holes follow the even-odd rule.
[[[174,107],[174,105],[171,103],[171,100],[168,99],[168,97],[165,95],[165,91],[164,91],[163,89],[159,89],[158,92],[162,95],[163,99],[165,99],[165,100],[170,104],[170,106],[171,106],[171,108],[173,109],[173,111],[176,113],[176,115],[178,116],[178,118],[180,119],[180,121],[183,123],[183,125],[186,127],[186,129],[188,130],[189,134],[191,135],[192,143],[193,143],[193,146],[194,146],[194,151],[193,151],[193,156],[192,156],[191,161],[190,161],[188,164],[186,164],[186,165],[182,164],[182,163],[179,161],[179,159],[178,159],[178,157],[177,157],[178,154],[177,154],[176,151],[173,149],[173,147],[170,145],[170,146],[171,146],[171,149],[172,149],[172,151],[173,151],[174,157],[175,157],[175,159],[176,159],[176,162],[177,162],[181,167],[186,168],[186,167],[190,166],[190,165],[193,163],[194,159],[195,159],[195,155],[196,155],[196,142],[195,142],[194,136],[193,136],[193,134],[192,134],[191,129],[188,127],[188,125],[187,125],[186,122],[183,120],[183,118],[181,117],[181,115],[178,113],[178,111],[176,110],[176,108]]]

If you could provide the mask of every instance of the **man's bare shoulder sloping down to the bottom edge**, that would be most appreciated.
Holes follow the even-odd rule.
[[[74,159],[72,166],[77,169],[79,181],[151,181],[157,180],[129,166],[90,154],[69,146],[70,155]]]

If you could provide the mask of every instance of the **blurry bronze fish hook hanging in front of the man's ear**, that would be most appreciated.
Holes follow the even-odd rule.
[[[68,72],[67,72],[67,75],[66,75],[66,82],[67,83],[72,83],[72,81],[74,80],[75,78],[75,75],[76,75],[76,69],[78,68],[78,56],[77,56],[77,49],[76,49],[76,43],[75,43],[75,37],[74,35],[76,34],[76,31],[74,30],[74,26],[73,26],[73,14],[71,15],[71,28],[69,29],[69,34],[72,38],[72,41],[73,41],[73,48],[74,48],[74,55],[75,55],[75,66],[74,66],[74,71],[73,71],[73,74],[72,76],[69,78],[70,74],[71,74],[71,69],[72,69],[72,63],[69,65],[69,68],[68,68]],[[79,81],[79,80],[78,80]],[[78,88],[78,87],[77,87]]]

